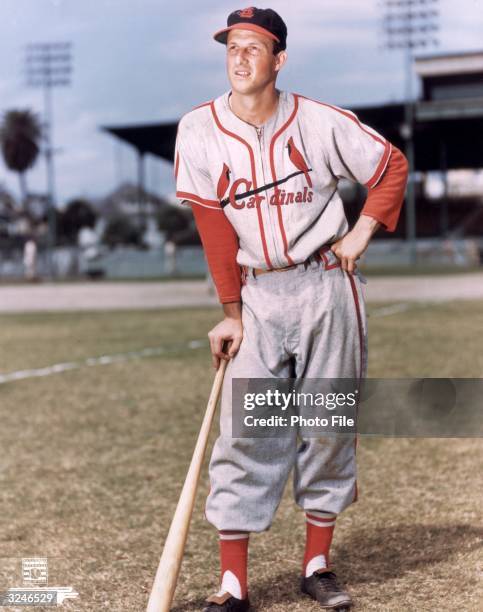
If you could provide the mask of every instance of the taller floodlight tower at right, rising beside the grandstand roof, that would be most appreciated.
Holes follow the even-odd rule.
[[[411,264],[417,262],[416,202],[414,163],[414,92],[413,52],[421,47],[438,45],[439,0],[381,0],[384,16],[385,46],[405,51],[405,105],[401,135],[409,163],[409,181],[406,199],[406,240]]]

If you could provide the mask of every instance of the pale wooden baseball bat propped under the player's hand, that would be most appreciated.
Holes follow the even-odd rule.
[[[195,505],[201,466],[208,444],[208,436],[215,415],[226,365],[227,361],[222,359],[216,371],[205,416],[201,424],[198,440],[196,441],[188,474],[184,481],[183,490],[181,491],[178,505],[171,521],[171,527],[164,543],[163,554],[161,555],[156,577],[154,578],[146,612],[169,612],[171,608]]]

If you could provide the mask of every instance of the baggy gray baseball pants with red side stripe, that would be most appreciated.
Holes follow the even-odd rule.
[[[220,435],[210,460],[207,520],[218,530],[270,528],[288,476],[304,510],[339,514],[357,496],[355,437],[232,437],[233,378],[365,376],[367,325],[361,280],[328,251],[242,287],[244,337],[228,363]]]

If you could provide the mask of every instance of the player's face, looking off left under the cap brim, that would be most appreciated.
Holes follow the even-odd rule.
[[[233,91],[249,95],[275,81],[286,54],[273,54],[268,36],[249,30],[232,30],[226,45],[227,71]]]

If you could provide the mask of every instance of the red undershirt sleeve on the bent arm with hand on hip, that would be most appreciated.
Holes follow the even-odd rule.
[[[404,202],[407,179],[407,159],[392,145],[384,174],[374,187],[369,188],[361,214],[373,217],[386,231],[394,232]]]

